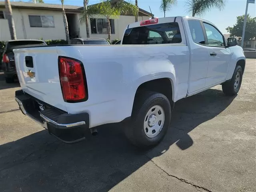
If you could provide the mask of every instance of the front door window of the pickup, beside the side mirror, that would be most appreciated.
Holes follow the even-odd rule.
[[[212,25],[203,23],[206,31],[208,45],[212,46],[224,46],[224,40],[222,34]]]

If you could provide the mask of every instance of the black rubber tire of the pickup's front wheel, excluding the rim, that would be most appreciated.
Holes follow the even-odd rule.
[[[240,76],[240,80],[239,82],[236,81],[236,75],[239,73]],[[222,91],[224,92],[225,95],[227,96],[233,96],[236,95],[238,93],[238,91],[240,90],[240,86],[242,84],[242,77],[243,77],[243,70],[242,67],[240,65],[237,65],[235,70],[234,70],[234,74],[232,76],[232,79],[228,82],[225,82],[222,84]],[[235,88],[235,82],[238,82],[238,85]]]

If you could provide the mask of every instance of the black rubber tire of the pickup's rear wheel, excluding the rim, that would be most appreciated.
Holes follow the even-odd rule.
[[[160,106],[164,110],[164,124],[159,133],[150,138],[144,132],[144,120],[147,112],[154,106]],[[140,94],[134,102],[130,124],[126,127],[126,136],[132,144],[140,148],[149,148],[157,145],[165,136],[171,120],[171,106],[168,98],[157,92]]]

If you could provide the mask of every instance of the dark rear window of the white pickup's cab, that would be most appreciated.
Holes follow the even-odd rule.
[[[147,45],[181,43],[177,22],[154,24],[126,29],[122,44]]]

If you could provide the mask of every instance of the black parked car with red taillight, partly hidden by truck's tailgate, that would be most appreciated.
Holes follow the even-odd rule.
[[[6,83],[12,83],[17,79],[14,53],[12,50],[14,48],[22,48],[35,45],[47,45],[46,42],[42,40],[30,40],[30,39],[19,39],[10,40],[6,43],[4,53],[2,55],[2,69],[4,70],[4,76]]]

